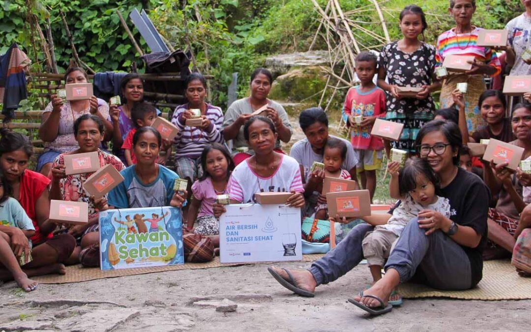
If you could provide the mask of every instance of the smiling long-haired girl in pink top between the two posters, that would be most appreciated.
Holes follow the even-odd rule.
[[[210,237],[219,247],[219,220],[214,216],[212,205],[217,195],[227,194],[227,182],[234,169],[229,151],[219,143],[206,146],[201,153],[203,176],[192,185],[193,199],[188,210],[187,229],[192,231],[194,221],[198,226],[194,233]]]

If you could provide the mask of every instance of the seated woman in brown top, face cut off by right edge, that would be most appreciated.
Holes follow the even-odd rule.
[[[531,106],[517,104],[512,112],[511,126],[516,140],[510,144],[524,148],[521,157],[521,160],[524,160],[531,156]],[[492,195],[498,196],[496,207],[489,209],[490,241],[485,250],[485,259],[510,256],[516,243],[514,235],[518,228],[520,213],[526,206],[522,199],[522,182],[529,180],[531,175],[524,172],[515,173],[507,168],[507,165],[508,163],[497,165],[491,163],[484,167],[485,183]]]

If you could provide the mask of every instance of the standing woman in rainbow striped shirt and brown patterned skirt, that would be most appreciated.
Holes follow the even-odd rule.
[[[439,36],[435,55],[438,67],[436,70],[446,72],[440,75],[443,79],[441,107],[453,105],[452,93],[460,87],[465,97],[468,131],[473,133],[484,124],[481,112],[476,107],[479,95],[486,90],[483,76],[498,75],[501,72],[501,64],[491,48],[477,46],[479,31],[483,29],[470,23],[476,11],[475,0],[450,0],[448,11],[453,16],[456,27]],[[458,86],[458,83],[466,83],[466,86]]]

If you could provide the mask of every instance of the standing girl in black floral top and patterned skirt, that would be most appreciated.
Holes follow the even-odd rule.
[[[433,119],[435,103],[431,92],[441,87],[433,72],[435,49],[418,39],[426,28],[422,9],[415,5],[405,7],[400,12],[404,37],[385,45],[380,53],[378,86],[388,91],[386,118],[404,124],[400,140],[391,145],[412,154],[418,130]],[[402,92],[404,89],[413,91]]]

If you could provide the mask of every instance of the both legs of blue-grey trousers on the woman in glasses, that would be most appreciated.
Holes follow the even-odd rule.
[[[333,282],[358,265],[363,259],[363,238],[372,230],[371,225],[357,225],[335,249],[313,262],[309,271],[317,284]],[[417,267],[422,270],[424,283],[433,288],[465,290],[472,286],[470,262],[463,248],[441,231],[426,236],[415,218],[402,231],[386,270],[396,269],[404,283],[415,275]]]

